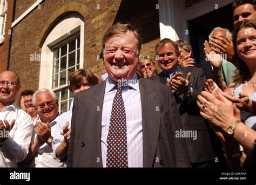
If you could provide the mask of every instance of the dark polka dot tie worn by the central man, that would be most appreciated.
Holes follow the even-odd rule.
[[[107,135],[106,167],[128,167],[126,114],[122,98],[122,87],[117,87],[117,93],[113,100],[109,135]]]

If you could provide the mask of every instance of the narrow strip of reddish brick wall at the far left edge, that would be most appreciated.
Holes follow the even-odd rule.
[[[4,43],[0,45],[0,73],[5,71],[7,68],[9,39],[10,39],[9,30],[11,30],[12,7],[13,7],[13,0],[9,0],[6,23],[5,23],[5,35],[4,35],[5,39],[4,39]]]

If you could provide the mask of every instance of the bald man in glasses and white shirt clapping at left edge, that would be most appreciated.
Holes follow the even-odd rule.
[[[14,72],[0,74],[0,167],[17,167],[29,152],[32,119],[15,105],[20,87]]]

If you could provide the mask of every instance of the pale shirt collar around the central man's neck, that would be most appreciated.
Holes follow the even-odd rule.
[[[138,90],[139,88],[139,80],[138,80],[138,77],[137,77],[137,74],[135,73],[132,78],[130,78],[129,80],[124,80],[123,82],[122,81],[113,81],[110,76],[107,77],[106,79],[106,92],[110,92],[112,90],[114,90],[114,87],[118,84],[118,83],[122,83],[124,85],[128,85],[128,87],[131,87],[133,88],[134,90]]]

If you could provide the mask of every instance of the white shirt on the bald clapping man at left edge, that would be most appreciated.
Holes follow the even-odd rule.
[[[29,153],[33,121],[29,114],[15,104],[5,106],[0,111],[0,120],[5,119],[9,124],[14,119],[16,121],[9,138],[0,142],[0,167],[17,167],[17,163]]]

